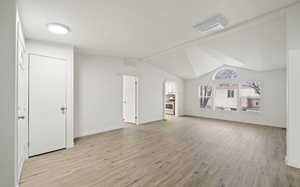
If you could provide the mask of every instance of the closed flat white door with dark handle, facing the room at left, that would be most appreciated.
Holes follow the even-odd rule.
[[[66,61],[30,55],[29,155],[66,147]]]

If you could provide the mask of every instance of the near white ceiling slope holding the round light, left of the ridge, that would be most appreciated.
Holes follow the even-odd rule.
[[[81,53],[144,58],[202,37],[193,25],[216,14],[228,27],[297,0],[18,0],[27,38],[74,45]],[[57,36],[46,25],[71,32]]]

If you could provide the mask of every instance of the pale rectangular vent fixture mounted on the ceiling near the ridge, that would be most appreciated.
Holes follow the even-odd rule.
[[[225,18],[225,16],[219,14],[212,18],[207,19],[206,21],[199,23],[197,25],[194,25],[194,29],[201,32],[202,34],[210,34],[219,32],[223,29],[225,29],[225,26],[227,25],[228,21]]]

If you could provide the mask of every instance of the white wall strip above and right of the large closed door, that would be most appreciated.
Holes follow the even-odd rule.
[[[26,53],[60,58],[68,63],[66,147],[71,148],[74,146],[74,48],[69,45],[27,40]]]

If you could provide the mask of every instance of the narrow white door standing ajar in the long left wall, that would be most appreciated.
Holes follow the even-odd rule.
[[[136,123],[137,79],[123,76],[123,119],[124,122]]]

